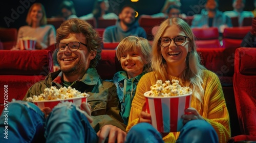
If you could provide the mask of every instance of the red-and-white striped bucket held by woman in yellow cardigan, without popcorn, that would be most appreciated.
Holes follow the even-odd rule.
[[[191,94],[174,97],[146,96],[146,109],[154,128],[161,133],[178,132],[183,127],[181,116],[190,107]]]

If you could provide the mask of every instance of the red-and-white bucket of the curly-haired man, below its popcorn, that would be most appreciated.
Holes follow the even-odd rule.
[[[82,102],[87,103],[87,97],[76,97],[76,98],[70,98],[70,99],[60,99],[60,100],[43,100],[43,101],[32,101],[36,106],[38,106],[40,109],[45,107],[50,107],[51,109],[54,108],[57,104],[61,102],[73,102],[75,105],[80,106]]]

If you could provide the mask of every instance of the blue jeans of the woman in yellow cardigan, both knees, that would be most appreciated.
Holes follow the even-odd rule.
[[[148,123],[131,128],[126,142],[163,142],[161,134]],[[192,120],[184,125],[176,142],[219,142],[215,129],[204,120]]]

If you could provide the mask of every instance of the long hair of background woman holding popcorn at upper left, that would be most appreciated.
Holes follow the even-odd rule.
[[[30,17],[30,14],[32,12],[32,9],[34,7],[40,7],[41,10],[42,10],[42,18],[39,22],[39,25],[40,26],[44,26],[47,24],[47,18],[46,18],[46,10],[45,10],[45,7],[41,4],[41,3],[35,3],[33,4],[30,8],[29,8],[29,12],[28,12],[28,15],[27,15],[27,18],[26,18],[26,22],[28,23],[29,26],[32,26],[32,18]]]

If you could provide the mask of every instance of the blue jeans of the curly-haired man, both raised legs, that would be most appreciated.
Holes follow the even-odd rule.
[[[5,110],[4,110],[5,111]],[[98,142],[98,136],[83,111],[72,103],[60,103],[47,119],[33,103],[13,101],[8,117],[0,116],[0,142]],[[5,125],[5,120],[8,125]],[[4,133],[8,129],[8,139]]]

